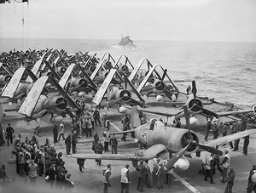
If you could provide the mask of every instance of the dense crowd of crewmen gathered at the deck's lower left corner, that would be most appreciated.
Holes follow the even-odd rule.
[[[43,177],[49,182],[50,189],[57,188],[58,190],[70,191],[74,183],[70,180],[71,174],[67,173],[65,162],[62,160],[62,153],[57,153],[55,147],[49,144],[49,139],[46,139],[44,145],[40,145],[35,135],[32,139],[26,137],[21,138],[21,134],[15,139],[15,150],[12,151],[15,156],[16,173],[20,177],[29,176],[30,184],[36,186],[37,178]],[[5,172],[5,164],[3,164],[0,174],[2,184],[8,184],[10,179]],[[0,172],[0,173],[2,173]]]

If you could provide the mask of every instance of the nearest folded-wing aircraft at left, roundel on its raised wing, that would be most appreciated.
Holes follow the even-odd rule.
[[[58,89],[61,96],[48,97],[46,94],[42,94],[44,86],[48,81]],[[67,105],[70,105],[72,109],[69,109]],[[18,112],[26,116],[25,120],[27,122],[44,117],[47,114],[51,116],[48,120],[49,122],[62,122],[66,114],[73,117],[72,111],[78,111],[78,109],[79,106],[61,88],[59,83],[55,81],[55,78],[43,76],[38,78],[33,84]]]

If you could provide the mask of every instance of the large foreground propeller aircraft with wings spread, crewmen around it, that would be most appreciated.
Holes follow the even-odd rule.
[[[153,158],[159,158],[166,153],[169,153],[170,160],[165,165],[166,169],[176,167],[183,171],[189,168],[189,161],[183,155],[189,156],[195,152],[207,150],[208,152],[221,156],[223,151],[215,149],[215,145],[224,145],[235,139],[241,139],[242,137],[256,133],[256,129],[250,129],[218,139],[209,140],[208,142],[201,144],[197,134],[190,129],[189,112],[186,105],[183,106],[183,111],[188,129],[166,127],[160,121],[150,120],[134,130],[114,133],[134,133],[135,138],[146,146],[146,149],[138,150],[135,154],[73,154],[70,157],[82,159],[125,160],[131,161],[133,167],[137,167],[137,162],[139,160],[147,162]],[[152,176],[150,178],[152,183]]]

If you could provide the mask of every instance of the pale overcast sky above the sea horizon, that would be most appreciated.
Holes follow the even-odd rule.
[[[0,4],[0,37],[256,42],[255,0],[17,2]]]

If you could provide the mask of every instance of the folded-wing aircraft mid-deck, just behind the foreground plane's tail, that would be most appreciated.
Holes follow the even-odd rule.
[[[110,85],[114,75],[119,75],[119,72],[116,69],[111,69],[108,73],[108,76],[102,83],[102,86],[99,88],[98,92],[96,93],[95,97],[92,99],[92,102],[96,104],[96,106],[104,108],[104,107],[112,107],[115,104],[126,104],[126,105],[144,105],[144,100],[141,94],[137,93],[137,89],[134,85],[129,81],[127,77],[124,78],[125,86],[123,88],[119,88],[114,85]],[[131,96],[131,92],[127,90],[127,84],[130,85],[131,89],[137,95],[137,99],[133,99]],[[108,96],[105,96],[105,94]],[[107,98],[107,103],[103,104],[102,99]]]

